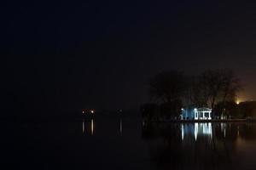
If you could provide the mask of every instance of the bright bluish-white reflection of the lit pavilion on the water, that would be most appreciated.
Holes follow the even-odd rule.
[[[195,140],[198,136],[206,136],[212,139],[212,123],[195,123],[195,124],[182,124],[181,136],[182,140],[187,136],[194,135]]]

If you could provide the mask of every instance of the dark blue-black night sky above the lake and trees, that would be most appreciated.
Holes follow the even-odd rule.
[[[16,108],[136,109],[163,70],[232,69],[256,99],[256,6],[233,1],[1,5],[3,91]]]

